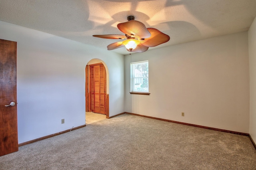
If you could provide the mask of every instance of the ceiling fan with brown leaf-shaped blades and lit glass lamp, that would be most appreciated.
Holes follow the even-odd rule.
[[[148,47],[155,47],[170,40],[170,37],[156,28],[146,28],[139,21],[134,20],[134,16],[127,17],[128,22],[117,24],[117,28],[125,34],[108,34],[108,35],[93,35],[98,38],[105,39],[127,39],[122,42],[115,42],[107,46],[108,50],[126,47],[130,52],[144,52]]]

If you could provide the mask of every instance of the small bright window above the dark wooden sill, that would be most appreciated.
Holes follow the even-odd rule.
[[[148,61],[131,63],[131,94],[148,93]]]

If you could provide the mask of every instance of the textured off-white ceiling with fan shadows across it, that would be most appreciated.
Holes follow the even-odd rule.
[[[116,25],[135,16],[170,36],[166,47],[247,31],[256,0],[0,0],[0,20],[107,50],[120,40],[92,37],[123,34]],[[114,49],[128,54],[124,47]]]

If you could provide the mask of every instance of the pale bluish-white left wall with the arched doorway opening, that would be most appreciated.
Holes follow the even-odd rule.
[[[0,39],[17,42],[19,143],[85,124],[84,71],[94,58],[108,67],[110,116],[124,112],[123,55],[2,21]]]

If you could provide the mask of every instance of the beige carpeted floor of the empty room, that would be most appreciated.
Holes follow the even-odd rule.
[[[256,170],[256,150],[240,136],[120,115],[19,148],[1,170]]]

